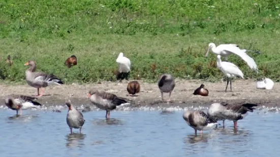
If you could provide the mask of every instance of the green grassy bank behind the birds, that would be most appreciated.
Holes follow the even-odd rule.
[[[221,78],[206,46],[232,43],[255,59],[259,73],[241,58],[229,61],[245,78],[280,76],[280,2],[276,0],[4,0],[0,2],[0,78],[21,82],[24,63],[64,82],[114,81],[119,52],[132,62],[131,79]],[[11,55],[13,65],[5,60]],[[78,65],[64,61],[76,55]],[[139,75],[139,76],[138,76]]]

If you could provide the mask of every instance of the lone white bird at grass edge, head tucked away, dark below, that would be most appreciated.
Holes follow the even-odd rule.
[[[119,79],[120,77],[120,82],[123,79],[122,75],[125,74],[125,78],[126,80],[129,80],[129,73],[130,73],[130,59],[128,59],[127,57],[123,56],[123,53],[119,53],[118,58],[116,59],[116,62],[118,63],[118,71],[119,76],[117,76],[117,78]]]

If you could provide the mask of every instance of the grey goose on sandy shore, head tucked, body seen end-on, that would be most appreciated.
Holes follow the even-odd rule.
[[[173,76],[171,74],[167,74],[167,73],[161,75],[160,80],[158,82],[158,86],[162,93],[162,101],[164,101],[163,93],[169,93],[169,99],[167,100],[167,102],[171,101],[170,100],[171,93],[175,87],[175,81],[174,81]]]

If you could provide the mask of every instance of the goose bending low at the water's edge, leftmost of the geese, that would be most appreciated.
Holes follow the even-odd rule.
[[[16,110],[18,115],[18,110],[20,110],[20,114],[22,114],[22,110],[38,108],[38,106],[42,106],[39,102],[34,101],[35,99],[37,98],[11,94],[6,96],[5,104],[8,108]]]

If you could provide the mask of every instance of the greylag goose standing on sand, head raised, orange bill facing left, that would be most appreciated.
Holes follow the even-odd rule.
[[[51,85],[61,85],[63,82],[55,75],[46,74],[43,72],[35,72],[35,61],[28,61],[24,64],[30,67],[25,71],[26,82],[29,86],[37,88],[38,96],[43,96],[44,88]],[[39,89],[41,88],[41,95]]]

